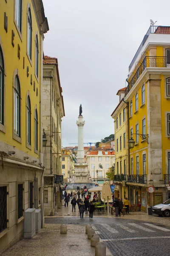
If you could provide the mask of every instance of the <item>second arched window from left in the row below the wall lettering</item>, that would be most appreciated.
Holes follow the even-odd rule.
[[[15,76],[14,82],[14,133],[20,137],[20,81],[18,76]]]

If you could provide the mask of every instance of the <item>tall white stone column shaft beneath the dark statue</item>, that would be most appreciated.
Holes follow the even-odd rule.
[[[78,126],[78,151],[77,151],[77,163],[84,163],[84,134],[83,127],[85,125],[85,121],[83,121],[83,116],[78,117],[78,121],[76,122]]]

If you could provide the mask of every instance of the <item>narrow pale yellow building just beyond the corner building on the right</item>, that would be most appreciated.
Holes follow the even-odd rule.
[[[119,96],[119,104],[111,114],[114,119],[114,131],[115,131],[115,197],[125,199],[128,197],[128,187],[126,186],[126,175],[128,172],[128,157],[127,157],[127,106],[123,101],[125,96],[125,88],[120,89],[117,92]]]

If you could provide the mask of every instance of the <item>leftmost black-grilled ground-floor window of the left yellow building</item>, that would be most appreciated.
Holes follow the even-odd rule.
[[[0,232],[7,228],[7,187],[0,187]]]

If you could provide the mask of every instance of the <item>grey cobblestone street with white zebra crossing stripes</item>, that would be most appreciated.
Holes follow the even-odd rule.
[[[65,208],[65,207],[64,207]],[[67,210],[69,212],[69,207]],[[92,224],[96,233],[113,256],[169,256],[170,218],[144,213],[132,213],[122,217],[94,215],[80,219],[74,216],[45,218],[45,223],[71,224],[81,226]],[[79,226],[80,225],[80,226]]]

